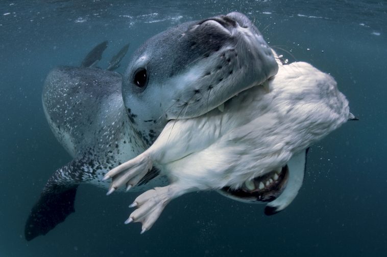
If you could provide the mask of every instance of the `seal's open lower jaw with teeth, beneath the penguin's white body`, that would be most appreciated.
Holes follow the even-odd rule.
[[[279,170],[246,181],[241,187],[223,187],[220,193],[239,202],[267,203],[274,201],[286,187],[289,170],[287,165]]]

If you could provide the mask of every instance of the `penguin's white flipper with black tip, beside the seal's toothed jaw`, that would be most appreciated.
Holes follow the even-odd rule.
[[[287,181],[287,185],[277,199],[267,204],[264,209],[264,213],[266,215],[273,215],[282,211],[291,204],[293,199],[297,196],[304,181],[306,155],[308,149],[294,155],[287,163],[287,167],[289,169],[289,179]]]

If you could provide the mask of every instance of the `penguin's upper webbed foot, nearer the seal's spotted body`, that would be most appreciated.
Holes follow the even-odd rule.
[[[114,192],[117,188],[126,185],[128,191],[152,169],[153,161],[150,156],[144,152],[113,169],[111,169],[103,180],[112,178],[107,195]]]

